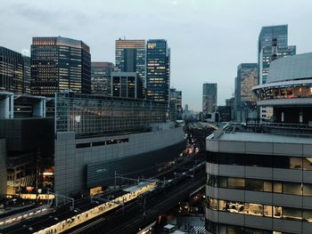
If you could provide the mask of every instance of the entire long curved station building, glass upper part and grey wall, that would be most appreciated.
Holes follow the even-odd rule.
[[[150,173],[185,148],[183,128],[166,123],[165,102],[77,93],[55,101],[56,193],[111,185],[115,172]]]

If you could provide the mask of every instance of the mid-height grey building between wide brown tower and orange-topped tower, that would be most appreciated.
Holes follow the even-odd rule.
[[[91,62],[91,93],[111,95],[111,72],[113,69],[112,62]]]

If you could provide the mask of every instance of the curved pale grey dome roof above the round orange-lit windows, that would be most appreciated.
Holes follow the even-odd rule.
[[[312,77],[312,52],[272,61],[267,83]]]

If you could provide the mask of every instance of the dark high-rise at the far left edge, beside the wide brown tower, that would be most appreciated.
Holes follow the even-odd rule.
[[[0,90],[29,93],[29,57],[0,46]]]

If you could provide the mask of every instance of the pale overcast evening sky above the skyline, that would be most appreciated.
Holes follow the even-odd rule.
[[[170,85],[201,110],[203,83],[218,83],[218,105],[234,93],[237,66],[257,62],[262,26],[288,24],[297,53],[312,52],[310,0],[0,0],[0,45],[21,52],[32,36],[65,36],[90,46],[92,61],[115,62],[115,40],[167,39]]]

